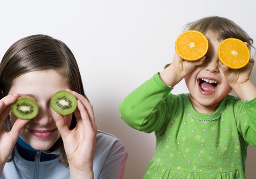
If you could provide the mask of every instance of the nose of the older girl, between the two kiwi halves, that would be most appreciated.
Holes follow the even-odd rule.
[[[39,124],[40,126],[47,126],[49,123],[53,121],[51,116],[51,109],[47,107],[47,105],[39,105],[38,104],[38,114],[33,119],[34,123]]]

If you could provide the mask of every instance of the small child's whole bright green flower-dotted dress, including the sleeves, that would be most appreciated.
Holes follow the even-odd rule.
[[[143,178],[245,178],[248,144],[256,145],[256,98],[226,96],[212,114],[188,94],[173,95],[155,74],[119,105],[131,127],[155,132],[156,152]]]

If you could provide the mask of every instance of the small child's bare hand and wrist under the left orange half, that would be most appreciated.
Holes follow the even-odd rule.
[[[202,64],[204,62],[204,59],[205,57],[194,62],[185,61],[177,53],[175,53],[172,64],[164,69],[159,74],[159,76],[165,85],[174,87],[187,74],[193,71],[197,65]]]

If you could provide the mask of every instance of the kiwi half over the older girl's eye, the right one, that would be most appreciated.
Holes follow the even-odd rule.
[[[56,113],[69,115],[76,109],[77,99],[70,92],[59,91],[52,96],[50,104]]]

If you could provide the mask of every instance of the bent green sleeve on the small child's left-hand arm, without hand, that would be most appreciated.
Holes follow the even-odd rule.
[[[167,96],[172,89],[162,82],[159,73],[155,74],[120,103],[120,118],[137,130],[158,130],[170,116]]]

